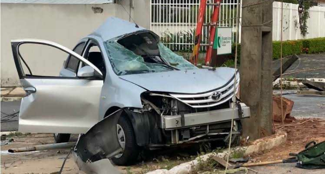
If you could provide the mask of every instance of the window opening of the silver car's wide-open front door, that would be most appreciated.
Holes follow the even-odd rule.
[[[37,41],[22,42],[18,44],[17,55],[20,57],[19,62],[22,70],[20,72],[21,76],[60,77],[59,72],[62,69],[62,62],[64,62],[67,57],[69,57],[67,66],[71,67],[71,69],[77,69],[78,63],[81,60],[87,65],[91,64],[86,59],[77,56],[78,54],[72,52],[66,47],[54,42],[50,43],[53,43],[54,45],[38,43]],[[82,52],[83,46],[84,45],[82,44],[78,45],[75,50],[80,54],[80,50]],[[74,63],[77,63],[77,65]],[[91,66],[94,67],[95,72],[100,72],[93,64],[91,64]]]

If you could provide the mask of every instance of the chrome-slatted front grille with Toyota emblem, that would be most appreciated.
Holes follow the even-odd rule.
[[[239,78],[236,80],[236,91],[238,90]],[[221,99],[215,101],[211,98],[212,94],[216,91],[222,93]],[[201,93],[201,94],[170,94],[175,99],[191,106],[192,108],[207,108],[216,105],[220,105],[225,103],[229,99],[233,97],[234,93],[234,80],[232,80],[225,87],[220,89],[215,89],[209,92]]]

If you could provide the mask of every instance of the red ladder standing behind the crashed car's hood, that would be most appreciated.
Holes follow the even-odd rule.
[[[201,0],[200,2],[200,8],[199,8],[199,16],[198,21],[196,25],[195,30],[195,38],[194,38],[194,48],[193,48],[193,54],[191,63],[197,64],[198,58],[199,58],[199,50],[200,45],[201,46],[208,46],[207,52],[205,55],[205,65],[210,65],[211,57],[212,57],[212,51],[213,51],[213,42],[214,42],[214,36],[215,36],[215,30],[217,28],[217,21],[219,17],[219,9],[220,9],[220,1],[221,0],[210,0],[210,3],[207,3],[208,0]],[[212,2],[212,3],[211,3]],[[204,16],[205,16],[205,10],[206,6],[214,6],[214,11],[210,20],[210,23],[204,24]],[[200,43],[202,38],[202,28],[203,26],[211,26],[210,32],[209,32],[209,42],[208,43]]]

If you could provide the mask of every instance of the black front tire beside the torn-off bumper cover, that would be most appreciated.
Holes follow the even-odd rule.
[[[136,144],[136,137],[134,134],[132,123],[128,118],[122,115],[119,118],[118,124],[122,127],[124,131],[125,147],[122,156],[115,156],[112,158],[112,161],[114,164],[119,166],[127,166],[134,164],[136,162],[137,157],[139,156],[140,148]]]

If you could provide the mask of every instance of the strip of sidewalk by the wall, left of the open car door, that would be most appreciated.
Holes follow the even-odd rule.
[[[25,96],[21,87],[1,87],[1,101],[16,101]]]

